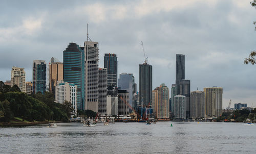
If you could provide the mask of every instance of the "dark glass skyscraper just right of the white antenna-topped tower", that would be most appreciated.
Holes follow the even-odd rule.
[[[108,73],[108,86],[117,86],[117,57],[115,54],[105,54],[104,68]]]

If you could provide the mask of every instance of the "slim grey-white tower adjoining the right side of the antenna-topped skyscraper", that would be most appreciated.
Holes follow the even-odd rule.
[[[106,114],[106,68],[99,68],[99,106],[98,112],[100,114]]]

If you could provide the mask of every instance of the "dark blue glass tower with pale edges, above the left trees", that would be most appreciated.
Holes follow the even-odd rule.
[[[34,60],[33,61],[33,93],[46,91],[46,61]]]

